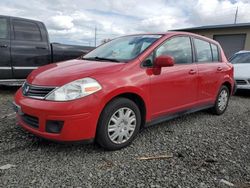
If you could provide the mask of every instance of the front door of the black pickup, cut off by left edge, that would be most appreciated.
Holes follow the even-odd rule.
[[[0,17],[0,79],[12,78],[9,18]]]

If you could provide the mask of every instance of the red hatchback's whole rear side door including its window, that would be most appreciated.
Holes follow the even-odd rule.
[[[212,103],[217,96],[223,80],[224,63],[220,62],[219,48],[216,44],[193,38],[196,63],[198,67],[200,103]]]

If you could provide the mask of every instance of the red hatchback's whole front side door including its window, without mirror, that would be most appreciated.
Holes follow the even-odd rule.
[[[175,36],[154,52],[154,58],[172,56],[175,65],[162,67],[150,78],[152,118],[172,114],[195,105],[197,100],[197,66],[193,63],[191,40]]]

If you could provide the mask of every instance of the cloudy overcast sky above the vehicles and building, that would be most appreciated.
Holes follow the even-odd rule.
[[[0,0],[0,14],[43,21],[50,40],[94,45],[131,33],[250,22],[250,0]]]

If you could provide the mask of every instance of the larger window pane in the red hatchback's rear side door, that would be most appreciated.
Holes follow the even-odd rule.
[[[200,39],[194,39],[197,62],[212,62],[210,43]]]

